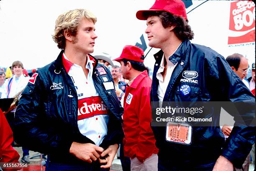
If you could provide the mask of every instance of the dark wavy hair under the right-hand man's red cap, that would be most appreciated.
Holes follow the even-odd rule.
[[[149,16],[158,16],[164,28],[175,26],[174,33],[180,40],[192,40],[194,38],[194,33],[191,30],[188,20],[183,17],[172,15],[166,11],[146,11],[143,16],[148,18]]]

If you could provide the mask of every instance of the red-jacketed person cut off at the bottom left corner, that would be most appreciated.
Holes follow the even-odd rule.
[[[0,163],[19,162],[19,153],[11,146],[13,142],[13,131],[0,109]],[[1,167],[0,167],[1,170]],[[19,169],[8,169],[19,170]]]

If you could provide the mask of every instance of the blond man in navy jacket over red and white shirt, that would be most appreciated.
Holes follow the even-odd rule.
[[[46,171],[109,169],[123,138],[110,71],[90,55],[96,21],[84,9],[59,15],[53,39],[62,50],[32,75],[20,99],[14,138],[48,154]]]

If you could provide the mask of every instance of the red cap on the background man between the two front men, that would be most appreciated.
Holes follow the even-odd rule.
[[[141,48],[138,48],[137,46],[125,45],[120,57],[114,60],[120,62],[120,60],[122,59],[134,60],[143,63],[144,51]]]

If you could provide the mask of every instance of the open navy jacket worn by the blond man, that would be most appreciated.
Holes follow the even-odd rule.
[[[72,79],[62,63],[61,51],[58,58],[36,71],[34,83],[28,83],[22,93],[15,113],[14,139],[32,151],[49,154],[50,160],[56,163],[84,162],[69,153],[73,141],[93,143],[82,135],[77,126],[78,99]],[[94,58],[95,59],[95,58]],[[105,66],[95,59],[92,78],[99,96],[110,110],[108,133],[101,147],[107,148],[123,140],[123,108],[116,96],[115,89],[106,90],[102,77],[113,82],[110,71],[100,75],[96,68]],[[63,88],[52,91],[53,83],[61,83]]]

